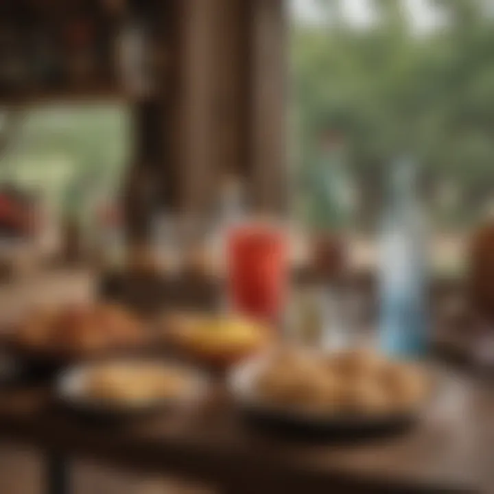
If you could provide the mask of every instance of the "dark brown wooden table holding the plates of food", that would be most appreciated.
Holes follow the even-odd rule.
[[[0,438],[48,458],[89,458],[149,473],[183,475],[244,493],[494,492],[494,390],[454,374],[421,423],[400,436],[308,443],[249,429],[218,384],[187,412],[125,425],[82,421],[56,406],[45,385],[0,392]],[[64,471],[51,462],[61,492]],[[55,487],[55,489],[54,489]]]

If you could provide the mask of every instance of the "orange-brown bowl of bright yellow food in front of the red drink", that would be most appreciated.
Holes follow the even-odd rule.
[[[180,355],[217,369],[259,353],[274,338],[270,327],[234,314],[168,314],[161,328]]]

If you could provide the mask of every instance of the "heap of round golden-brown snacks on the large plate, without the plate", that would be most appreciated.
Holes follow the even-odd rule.
[[[267,403],[310,414],[385,415],[409,410],[427,391],[419,369],[360,350],[318,357],[279,349],[256,386]]]

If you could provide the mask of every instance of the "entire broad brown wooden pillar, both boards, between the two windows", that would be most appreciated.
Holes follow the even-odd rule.
[[[180,70],[183,207],[205,211],[224,171],[257,209],[287,205],[283,0],[184,0]]]

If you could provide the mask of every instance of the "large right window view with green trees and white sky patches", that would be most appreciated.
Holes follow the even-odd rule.
[[[493,199],[492,2],[292,0],[290,7],[304,220],[375,232],[389,167],[408,152],[421,169],[434,248],[455,263]],[[344,207],[329,207],[325,183],[341,184],[333,189]]]

